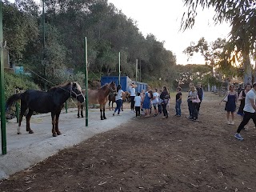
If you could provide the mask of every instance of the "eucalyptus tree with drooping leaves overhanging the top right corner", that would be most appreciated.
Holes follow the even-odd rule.
[[[245,68],[244,82],[251,82],[250,55],[255,59],[256,50],[256,2],[254,0],[183,0],[183,2],[188,6],[187,12],[182,17],[183,30],[194,26],[198,6],[202,6],[202,9],[213,7],[215,10],[213,19],[216,24],[230,22],[232,29],[223,58],[232,61],[234,57],[242,58]]]

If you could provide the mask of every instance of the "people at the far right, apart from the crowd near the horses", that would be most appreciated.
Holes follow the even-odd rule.
[[[240,93],[237,93],[234,90],[234,85],[231,84],[229,86],[229,90],[226,92],[224,98],[222,98],[222,102],[226,102],[225,110],[226,110],[226,122],[229,125],[234,125],[234,112],[237,108],[237,103],[240,101],[240,106],[238,108],[237,114],[241,116],[242,122],[238,126],[238,130],[234,137],[238,140],[242,141],[243,138],[240,134],[241,130],[246,130],[246,125],[252,118],[254,124],[256,126],[256,82],[251,86],[250,83],[247,83],[245,88],[241,90]],[[230,121],[230,114],[231,114],[231,121]]]

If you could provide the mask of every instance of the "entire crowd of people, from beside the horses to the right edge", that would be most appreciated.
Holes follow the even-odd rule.
[[[203,89],[200,83],[198,83],[197,86],[194,86],[194,84],[191,82],[189,86],[190,88],[188,90],[187,105],[190,115],[188,118],[192,121],[198,121],[198,114],[204,96]],[[152,111],[154,117],[158,116],[159,114],[163,114],[162,118],[168,118],[169,111],[167,110],[167,106],[170,104],[170,93],[166,86],[162,86],[162,90],[158,90],[156,88],[154,90],[150,90],[150,86],[148,86],[146,92],[142,90],[141,93],[137,94],[135,92],[136,87],[137,86],[134,83],[130,84],[130,109],[133,113],[136,113],[136,118],[140,117],[141,111],[144,112],[146,118],[150,117]],[[178,86],[176,91],[176,113],[174,116],[181,117],[182,88]],[[117,107],[114,110],[114,114],[118,111],[118,115],[120,115],[120,108],[122,106],[122,92],[122,86],[118,85],[116,94]],[[241,130],[246,129],[246,125],[250,121],[250,118],[253,119],[256,126],[255,100],[256,82],[254,82],[252,86],[250,83],[247,83],[245,88],[239,93],[234,90],[234,85],[231,84],[224,98],[222,98],[221,102],[219,103],[220,105],[222,102],[226,102],[226,122],[229,125],[234,125],[234,112],[238,105],[238,101],[241,102],[237,114],[241,116],[242,122],[238,126],[238,130],[234,135],[234,137],[238,140],[243,140],[240,132]]]

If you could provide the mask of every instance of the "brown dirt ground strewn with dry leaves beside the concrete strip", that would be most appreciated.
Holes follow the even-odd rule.
[[[185,98],[185,96],[184,96]],[[134,118],[0,181],[0,191],[256,191],[256,132],[226,124],[224,104],[206,94],[199,122]]]

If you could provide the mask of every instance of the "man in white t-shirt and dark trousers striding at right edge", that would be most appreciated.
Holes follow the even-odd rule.
[[[242,118],[242,122],[238,126],[237,133],[234,134],[234,137],[240,141],[243,140],[240,132],[247,125],[247,123],[250,121],[251,118],[253,119],[254,124],[256,126],[255,99],[256,99],[256,82],[254,82],[253,88],[246,94],[245,107],[243,108],[245,115]]]

